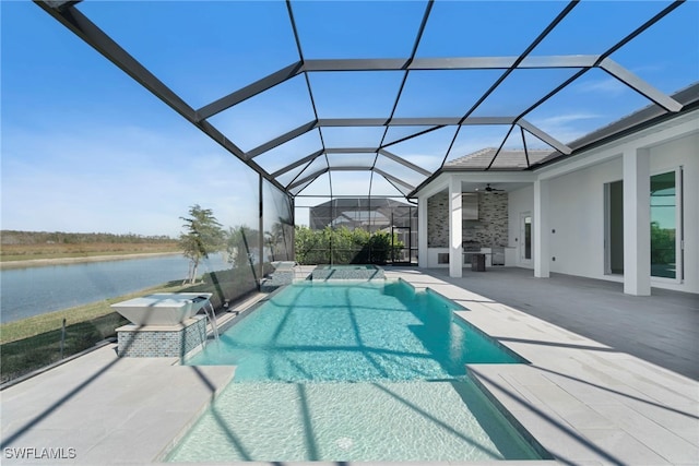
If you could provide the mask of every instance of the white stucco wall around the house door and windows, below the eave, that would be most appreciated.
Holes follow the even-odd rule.
[[[549,241],[550,271],[570,275],[623,280],[620,275],[605,274],[605,211],[604,186],[623,179],[623,160],[611,154],[605,162],[549,179]],[[649,147],[651,175],[683,167],[684,280],[651,277],[651,286],[687,292],[699,292],[699,134],[666,142],[662,133]],[[532,187],[510,192],[509,244],[520,246],[520,215],[534,215]],[[555,230],[555,232],[553,232]],[[554,260],[555,258],[555,260]],[[516,265],[532,268],[522,261],[517,249]]]

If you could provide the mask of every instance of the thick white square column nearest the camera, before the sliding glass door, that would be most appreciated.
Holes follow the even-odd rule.
[[[647,148],[624,152],[624,292],[651,294],[651,176]]]

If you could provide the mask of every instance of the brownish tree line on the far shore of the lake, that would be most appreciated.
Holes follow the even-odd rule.
[[[1,244],[169,243],[167,235],[0,230]]]

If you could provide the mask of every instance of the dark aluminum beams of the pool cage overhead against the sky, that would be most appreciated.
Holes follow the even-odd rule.
[[[276,72],[273,72],[265,77],[262,77],[252,84],[244,86],[226,96],[223,96],[210,104],[202,106],[199,109],[192,108],[187,104],[177,93],[167,87],[157,76],[149,71],[144,65],[137,61],[127,50],[125,50],[119,44],[111,39],[106,33],[104,33],[97,25],[95,25],[86,15],[84,15],[79,9],[80,1],[49,1],[49,0],[35,0],[40,8],[48,12],[51,16],[58,20],[61,24],[81,37],[85,43],[99,51],[103,56],[114,62],[118,68],[129,74],[132,79],[139,82],[142,86],[147,88],[151,93],[157,96],[161,100],[166,103],[170,108],[177,111],[181,117],[189,121],[194,127],[199,128],[212,140],[223,146],[227,152],[242,160],[250,168],[260,174],[261,177],[272,182],[279,189],[287,192],[292,196],[298,195],[306,187],[311,184],[321,175],[332,171],[370,171],[383,177],[390,184],[392,184],[404,196],[410,198],[416,186],[414,182],[395,175],[390,174],[379,167],[377,162],[379,157],[386,157],[403,168],[415,174],[418,179],[426,179],[433,177],[436,172],[440,171],[445,167],[448,155],[459,136],[459,132],[463,127],[477,126],[477,124],[499,124],[509,127],[507,135],[502,139],[502,142],[495,155],[493,156],[489,165],[484,167],[483,170],[487,171],[493,168],[499,152],[502,150],[508,136],[519,128],[522,145],[524,146],[524,155],[526,157],[526,168],[532,169],[537,166],[530,163],[529,151],[526,147],[525,133],[531,134],[535,139],[542,141],[552,148],[552,157],[546,157],[542,163],[554,163],[557,158],[564,156],[574,155],[577,151],[580,151],[591,144],[594,144],[597,139],[582,139],[577,142],[574,146],[566,145],[561,141],[556,140],[553,135],[536,128],[526,121],[525,117],[533,109],[541,106],[550,97],[566,88],[569,84],[573,83],[581,75],[592,69],[600,69],[608,75],[623,83],[625,86],[636,91],[638,94],[648,99],[651,105],[644,111],[640,112],[632,124],[641,124],[652,118],[656,118],[662,115],[670,115],[683,109],[683,105],[671,96],[657,91],[651,84],[644,82],[640,77],[636,76],[630,71],[620,67],[609,56],[616,50],[623,47],[625,44],[631,41],[635,37],[641,34],[653,24],[657,23],[670,12],[678,8],[684,0],[675,0],[657,12],[654,16],[647,20],[643,24],[638,26],[635,31],[628,34],[621,40],[613,45],[608,50],[601,55],[589,56],[549,56],[549,57],[530,57],[532,50],[544,40],[544,38],[556,28],[561,21],[579,4],[579,0],[569,1],[565,8],[558,13],[558,15],[541,32],[537,37],[525,48],[525,50],[518,57],[452,57],[452,58],[418,58],[416,51],[420,44],[423,33],[430,19],[430,12],[434,7],[434,0],[428,0],[425,7],[425,11],[422,15],[419,27],[416,32],[413,43],[412,51],[407,58],[399,59],[306,59],[303,50],[301,38],[299,36],[296,20],[294,15],[293,4],[291,0],[286,0],[286,10],[288,12],[288,20],[292,26],[294,40],[296,43],[296,49],[298,52],[298,61],[287,65]],[[578,70],[564,83],[559,84],[555,88],[552,88],[545,96],[541,97],[537,101],[526,108],[524,111],[518,115],[506,115],[500,117],[474,117],[474,111],[483,104],[487,97],[493,94],[498,86],[516,70],[523,69],[574,69]],[[425,118],[425,117],[411,117],[411,118],[395,118],[395,111],[401,101],[403,89],[408,74],[412,71],[418,70],[503,70],[502,74],[497,79],[489,88],[481,95],[476,103],[469,108],[461,117],[449,118]],[[309,74],[316,72],[352,72],[352,71],[402,71],[403,76],[399,87],[398,95],[393,99],[392,109],[386,118],[335,118],[327,119],[319,118],[318,109],[313,100],[313,86],[311,85]],[[313,120],[308,121],[297,128],[288,131],[282,135],[273,138],[263,144],[250,150],[242,151],[235,142],[230,141],[223,132],[215,128],[209,119],[215,115],[229,109],[251,97],[260,95],[265,91],[273,88],[274,86],[282,84],[295,76],[303,75],[306,82],[306,87],[310,96],[312,111],[315,115]],[[391,127],[426,127],[426,129],[418,132],[405,135],[396,141],[387,141],[387,134]],[[328,146],[323,141],[322,128],[351,128],[351,127],[383,127],[383,135],[377,147],[333,147]],[[449,148],[446,151],[441,164],[437,170],[430,171],[418,165],[406,160],[405,158],[388,151],[392,145],[401,142],[408,141],[414,138],[427,134],[429,132],[439,130],[446,127],[454,127],[455,132],[449,144]],[[613,135],[617,132],[629,130],[631,127],[623,123],[611,126],[607,131],[607,135]],[[298,159],[289,165],[270,174],[262,166],[254,162],[254,158],[265,154],[266,152],[277,147],[286,142],[293,141],[308,132],[318,131],[320,135],[321,147],[311,154],[303,154]],[[332,166],[328,160],[329,154],[344,154],[344,153],[366,153],[375,154],[374,164],[366,166]],[[306,169],[319,157],[325,157],[325,167],[308,172]],[[289,172],[291,170],[304,167],[291,181],[282,183],[279,177]],[[512,168],[512,170],[519,170],[521,168]],[[332,196],[332,178],[330,178],[330,195]],[[371,182],[369,184],[369,191],[371,191]],[[370,192],[367,193],[370,195]]]

